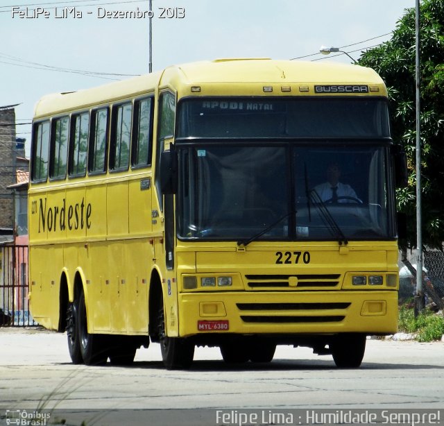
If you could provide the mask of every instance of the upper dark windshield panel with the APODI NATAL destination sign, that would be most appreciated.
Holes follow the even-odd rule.
[[[179,105],[178,137],[389,137],[382,98],[206,98]]]

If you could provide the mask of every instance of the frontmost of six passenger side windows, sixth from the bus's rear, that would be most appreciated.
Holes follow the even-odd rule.
[[[151,166],[153,151],[153,98],[139,99],[134,103],[133,147],[131,166]]]

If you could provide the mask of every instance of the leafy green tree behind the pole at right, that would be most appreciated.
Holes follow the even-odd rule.
[[[405,10],[391,40],[363,53],[359,65],[379,73],[388,87],[391,133],[407,152],[409,186],[398,190],[398,210],[407,214],[407,241],[416,245],[415,9]],[[420,122],[423,244],[444,241],[444,0],[420,5]]]

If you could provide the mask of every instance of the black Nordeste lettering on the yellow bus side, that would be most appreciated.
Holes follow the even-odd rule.
[[[85,205],[85,198],[80,203],[69,204],[63,198],[62,205],[49,205],[46,198],[39,200],[39,234],[58,230],[91,228],[92,205]]]

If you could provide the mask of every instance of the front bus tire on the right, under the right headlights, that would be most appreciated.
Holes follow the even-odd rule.
[[[365,334],[339,334],[332,341],[334,364],[338,368],[358,368],[366,352]]]

